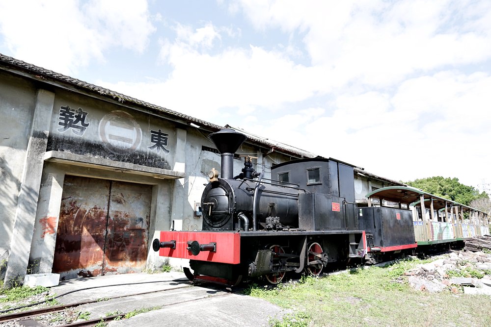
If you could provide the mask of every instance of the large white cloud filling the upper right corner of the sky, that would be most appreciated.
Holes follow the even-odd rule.
[[[489,1],[243,0],[234,5],[242,6],[258,29],[305,31],[312,65],[344,82],[387,86],[414,72],[491,56]]]

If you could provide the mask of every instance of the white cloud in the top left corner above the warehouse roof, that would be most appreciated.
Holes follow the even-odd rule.
[[[105,51],[141,52],[154,31],[146,1],[1,1],[0,31],[17,59],[74,74]]]

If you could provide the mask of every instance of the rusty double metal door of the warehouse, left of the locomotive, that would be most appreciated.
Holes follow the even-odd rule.
[[[66,176],[53,271],[62,279],[141,271],[151,186]]]

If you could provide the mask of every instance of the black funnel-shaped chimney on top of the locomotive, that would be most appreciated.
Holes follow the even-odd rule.
[[[246,135],[223,128],[208,136],[221,154],[221,178],[234,178],[234,153],[246,140]]]

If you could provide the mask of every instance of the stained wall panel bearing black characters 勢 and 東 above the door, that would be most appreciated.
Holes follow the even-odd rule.
[[[48,151],[69,151],[172,169],[176,130],[150,114],[82,95],[56,92]]]

